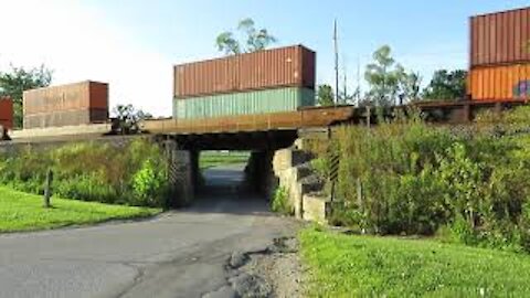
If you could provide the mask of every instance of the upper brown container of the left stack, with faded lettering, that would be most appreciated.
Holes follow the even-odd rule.
[[[23,103],[24,116],[52,111],[108,110],[108,84],[87,81],[26,91]]]

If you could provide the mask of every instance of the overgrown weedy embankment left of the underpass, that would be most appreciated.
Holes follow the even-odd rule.
[[[42,194],[46,171],[54,194],[82,201],[137,206],[167,206],[167,163],[158,145],[147,139],[110,146],[77,142],[45,150],[28,147],[0,157],[0,184]]]

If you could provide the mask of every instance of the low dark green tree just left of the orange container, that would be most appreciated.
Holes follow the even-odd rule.
[[[466,96],[467,72],[463,70],[436,71],[428,86],[423,91],[427,100],[455,100]]]

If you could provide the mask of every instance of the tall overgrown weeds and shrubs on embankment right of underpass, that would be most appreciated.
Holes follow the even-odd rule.
[[[470,245],[530,251],[528,119],[530,108],[522,107],[460,129],[418,117],[340,128],[324,149],[341,156],[342,203],[333,221],[370,234],[438,232]]]

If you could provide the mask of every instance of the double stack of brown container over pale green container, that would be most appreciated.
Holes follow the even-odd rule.
[[[173,71],[177,120],[315,105],[316,53],[301,45],[181,64]]]

